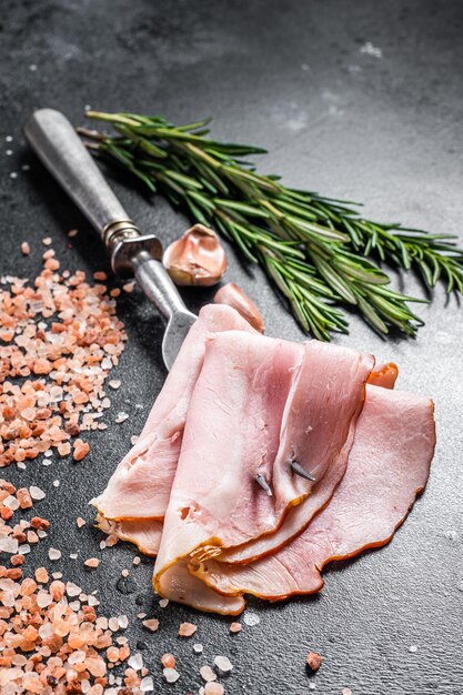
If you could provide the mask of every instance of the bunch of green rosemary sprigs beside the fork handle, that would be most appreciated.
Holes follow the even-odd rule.
[[[422,321],[375,261],[413,270],[463,293],[463,252],[450,235],[363,219],[343,201],[283,185],[243,158],[264,150],[210,140],[209,121],[175,127],[161,117],[88,111],[118,134],[80,129],[88,145],[162,193],[193,222],[215,228],[260,264],[302,328],[320,340],[346,332],[342,304],[379,333],[413,336]]]

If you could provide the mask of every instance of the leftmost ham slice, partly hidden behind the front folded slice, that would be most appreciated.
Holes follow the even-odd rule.
[[[238,330],[255,333],[234,309],[204,306],[190,330],[137,444],[122,459],[105,491],[93,501],[110,520],[161,521],[180,455],[190,399],[204,356],[209,333]]]

